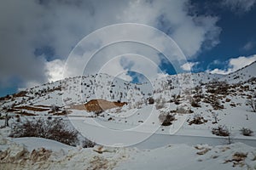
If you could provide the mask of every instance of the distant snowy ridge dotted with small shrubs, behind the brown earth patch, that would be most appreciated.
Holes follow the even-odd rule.
[[[49,82],[42,86],[26,89],[18,94],[8,95],[0,99],[3,108],[30,105],[50,110],[51,105],[64,106],[84,104],[91,99],[107,99],[109,101],[141,102],[163,91],[166,94],[180,94],[185,88],[192,88],[218,80],[220,75],[208,73],[181,74],[156,79],[154,82],[134,84],[106,74],[71,77],[63,81]],[[26,110],[26,109],[24,109]],[[15,110],[14,110],[15,111]],[[19,109],[19,111],[23,111]],[[45,111],[31,111],[42,112]]]

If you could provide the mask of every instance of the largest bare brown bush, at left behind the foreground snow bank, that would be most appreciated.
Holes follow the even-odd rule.
[[[9,136],[52,139],[69,145],[75,145],[78,141],[78,131],[67,129],[67,125],[61,119],[26,119],[26,122],[15,123]]]

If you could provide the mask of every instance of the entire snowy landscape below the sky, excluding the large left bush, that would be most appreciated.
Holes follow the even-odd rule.
[[[49,154],[44,160],[47,168],[56,160],[60,160],[65,168],[73,166],[67,161],[70,156],[73,161],[79,157],[81,162],[90,162],[77,165],[88,169],[97,168],[93,167],[97,164],[91,162],[108,169],[129,169],[131,164],[135,169],[155,169],[152,164],[155,157],[159,158],[157,165],[163,169],[169,169],[172,163],[177,163],[176,169],[191,166],[191,169],[253,169],[256,166],[255,72],[256,62],[225,76],[184,73],[137,84],[98,74],[68,77],[5,96],[0,98],[3,166],[10,166],[9,160],[20,162],[26,159],[20,154],[30,156],[33,149],[30,144],[38,140],[9,138],[17,123],[42,118],[50,126],[51,120],[60,119],[68,122],[67,129],[79,131],[77,148],[67,147],[71,152],[52,150],[49,154],[43,150],[43,155]],[[96,148],[81,150],[84,138],[96,144],[131,147],[110,147],[106,149],[107,153],[97,155]],[[51,150],[41,140],[37,143]],[[173,145],[168,146],[170,144]],[[195,147],[197,144],[203,145]],[[221,144],[231,145],[218,146]],[[15,149],[12,150],[10,145],[15,145]],[[38,145],[33,147],[36,149]],[[55,147],[59,148],[66,146]],[[38,154],[41,152],[39,150]],[[14,153],[15,158],[4,153]],[[84,154],[90,157],[83,160],[81,156]],[[188,162],[183,164],[183,161],[177,161],[178,157]],[[32,160],[28,161],[31,163]],[[40,163],[36,165],[44,167]]]

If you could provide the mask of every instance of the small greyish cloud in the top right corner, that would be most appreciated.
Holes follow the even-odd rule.
[[[253,8],[256,0],[224,0],[223,5],[234,12],[247,12]]]

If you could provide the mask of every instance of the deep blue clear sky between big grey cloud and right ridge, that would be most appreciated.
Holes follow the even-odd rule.
[[[196,3],[197,1],[195,1]],[[200,2],[200,1],[198,1]],[[207,2],[207,3],[210,3]],[[208,9],[209,10],[209,9]],[[199,9],[201,14],[207,13],[207,8]],[[223,68],[226,61],[230,58],[239,56],[250,56],[256,51],[256,8],[249,11],[232,11],[219,7],[218,4],[212,4],[213,14],[219,17],[217,25],[222,28],[219,35],[220,43],[210,49],[204,50],[199,54],[196,60],[203,61],[202,70],[207,70],[208,66]],[[221,61],[220,65],[209,65],[213,60]]]

